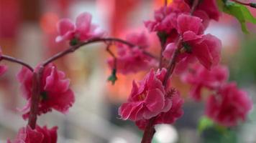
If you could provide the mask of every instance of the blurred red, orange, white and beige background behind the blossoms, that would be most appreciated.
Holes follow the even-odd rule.
[[[93,15],[110,36],[124,38],[129,31],[145,31],[143,21],[152,19],[154,9],[163,5],[162,0],[0,0],[0,46],[4,54],[15,56],[36,66],[42,59],[68,47],[55,43],[56,22],[62,18],[73,21],[83,11]],[[250,9],[256,16],[256,10]],[[223,14],[219,22],[211,21],[206,33],[214,34],[223,44],[222,63],[230,68],[230,80],[238,82],[255,103],[256,93],[256,26],[248,24],[250,34],[244,35],[239,23]],[[152,50],[160,46],[155,34],[150,35]],[[142,79],[145,72],[118,75],[111,86],[106,79],[110,73],[106,66],[109,55],[103,44],[83,47],[56,64],[71,79],[76,102],[66,115],[51,112],[39,117],[39,124],[58,125],[58,142],[140,142],[142,132],[134,123],[119,119],[119,105],[127,99],[132,79]],[[1,61],[1,64],[3,61]],[[19,127],[27,124],[17,108],[25,104],[19,90],[16,74],[19,65],[4,63],[8,72],[0,77],[0,142],[14,139]],[[204,103],[187,98],[189,87],[179,86],[186,104],[185,114],[173,125],[157,126],[155,143],[200,143],[204,135],[198,134],[198,119],[204,114]],[[232,137],[239,143],[256,142],[256,112],[252,110],[247,122],[234,128]],[[230,134],[229,134],[230,135]]]

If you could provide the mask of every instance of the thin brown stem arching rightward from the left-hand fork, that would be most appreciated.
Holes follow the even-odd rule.
[[[91,44],[91,43],[106,42],[106,41],[117,41],[117,42],[122,43],[122,44],[127,44],[128,46],[131,46],[131,47],[136,46],[136,45],[134,45],[132,43],[129,43],[128,41],[124,41],[122,39],[116,39],[116,38],[91,39],[91,40],[83,42],[81,44],[77,44],[76,46],[70,46],[70,48],[66,49],[65,51],[60,51],[58,54],[55,54],[50,59],[47,59],[46,61],[44,61],[42,63],[42,66],[46,66],[47,64],[51,63],[52,61],[55,61],[56,59],[59,59],[60,57],[65,56],[66,54],[69,54],[69,53],[71,53],[73,51],[76,51],[81,46],[84,46],[84,45],[87,45],[87,44]],[[147,51],[143,51],[143,53],[147,54],[148,56],[151,56],[153,58],[156,58],[155,56],[153,56],[152,54],[148,53]]]

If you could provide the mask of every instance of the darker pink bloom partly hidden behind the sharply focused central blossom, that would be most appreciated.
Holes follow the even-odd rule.
[[[168,99],[172,102],[172,107],[168,110],[168,112],[161,112],[155,117],[153,124],[173,124],[178,118],[183,115],[183,106],[184,100],[180,97],[178,92],[170,93],[168,95]],[[144,130],[149,119],[141,119],[136,121],[137,127]]]

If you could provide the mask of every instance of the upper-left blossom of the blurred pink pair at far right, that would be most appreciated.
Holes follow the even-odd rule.
[[[183,82],[191,84],[190,96],[196,101],[201,100],[201,90],[203,88],[216,90],[221,87],[229,77],[227,66],[214,66],[211,71],[200,64],[195,64],[183,74]]]

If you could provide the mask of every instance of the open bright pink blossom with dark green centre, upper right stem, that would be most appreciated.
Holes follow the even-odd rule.
[[[204,25],[201,21],[196,16],[186,14],[178,16],[178,34],[182,36],[183,46],[177,59],[177,62],[180,62],[177,65],[178,69],[186,69],[186,66],[196,59],[209,70],[219,64],[221,41],[211,34],[203,34]],[[174,43],[168,44],[163,56],[170,59],[177,48]]]

